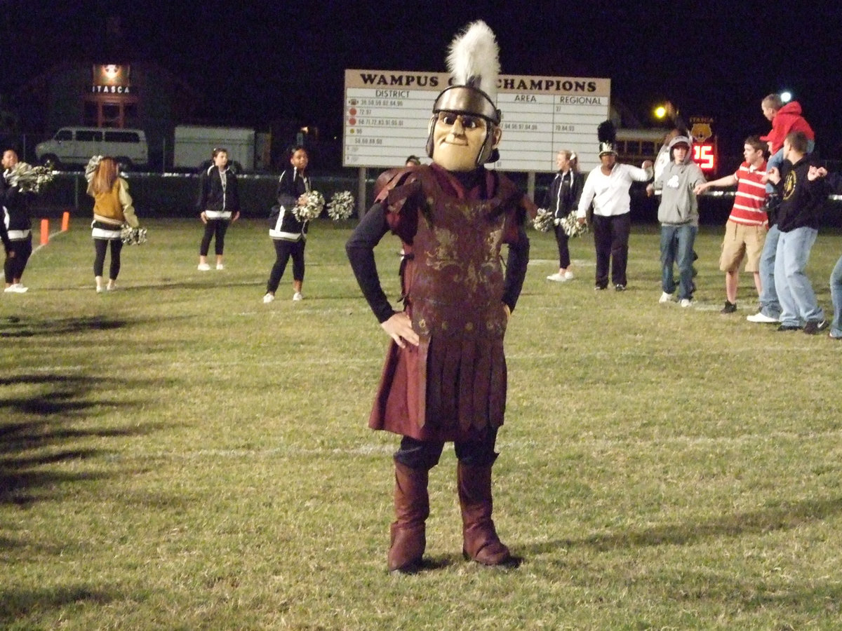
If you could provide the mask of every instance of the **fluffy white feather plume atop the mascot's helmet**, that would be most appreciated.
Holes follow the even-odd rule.
[[[447,69],[455,85],[478,87],[492,101],[497,99],[500,49],[492,29],[482,20],[468,24],[450,44]]]

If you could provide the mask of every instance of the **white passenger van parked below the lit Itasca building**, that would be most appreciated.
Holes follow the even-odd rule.
[[[149,162],[147,135],[143,130],[113,127],[62,127],[49,141],[35,146],[40,163],[86,165],[91,156],[112,156],[121,167],[145,167]]]

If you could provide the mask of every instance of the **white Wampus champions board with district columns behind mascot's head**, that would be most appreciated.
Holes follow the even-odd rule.
[[[445,72],[346,70],[344,167],[402,167],[425,157],[435,97]],[[599,165],[596,128],[608,119],[610,79],[501,75],[500,160],[504,171],[552,172],[556,153],[574,151],[583,171]]]

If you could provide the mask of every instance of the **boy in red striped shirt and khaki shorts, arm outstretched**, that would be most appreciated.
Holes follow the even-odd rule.
[[[719,268],[725,273],[726,299],[720,311],[722,314],[737,310],[739,267],[743,258],[746,259],[745,271],[754,274],[754,287],[758,295],[762,289],[759,261],[766,231],[769,230],[769,218],[764,209],[766,187],[762,181],[766,174],[764,148],[764,143],[757,136],[749,136],[743,145],[745,162],[736,172],[695,188],[695,194],[700,194],[711,186],[737,185],[731,216],[725,225],[722,256],[719,258]]]

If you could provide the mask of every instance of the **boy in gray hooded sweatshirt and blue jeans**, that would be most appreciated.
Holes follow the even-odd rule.
[[[661,191],[658,221],[661,222],[660,302],[671,302],[675,291],[673,265],[679,266],[679,304],[693,304],[693,244],[699,230],[699,204],[693,189],[705,183],[701,167],[690,155],[690,138],[677,135],[669,143],[670,162],[655,180]]]

